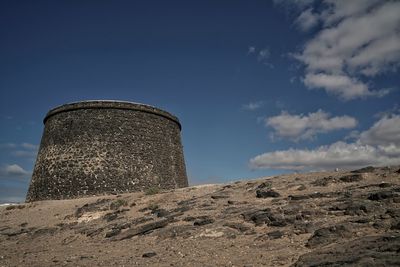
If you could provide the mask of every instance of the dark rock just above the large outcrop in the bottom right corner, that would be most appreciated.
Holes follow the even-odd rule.
[[[346,224],[320,228],[308,239],[306,247],[315,248],[333,243],[342,238],[349,238],[352,236],[351,229],[351,226]]]

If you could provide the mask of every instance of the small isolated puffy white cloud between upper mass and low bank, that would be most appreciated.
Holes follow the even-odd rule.
[[[323,110],[307,115],[291,115],[283,111],[278,116],[266,118],[265,125],[274,130],[272,137],[299,141],[313,139],[318,133],[354,128],[357,120],[349,116],[331,117]]]

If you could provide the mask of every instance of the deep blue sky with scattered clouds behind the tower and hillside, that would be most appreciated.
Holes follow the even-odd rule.
[[[141,102],[181,120],[191,184],[400,163],[398,1],[2,1],[0,201],[46,112]]]

